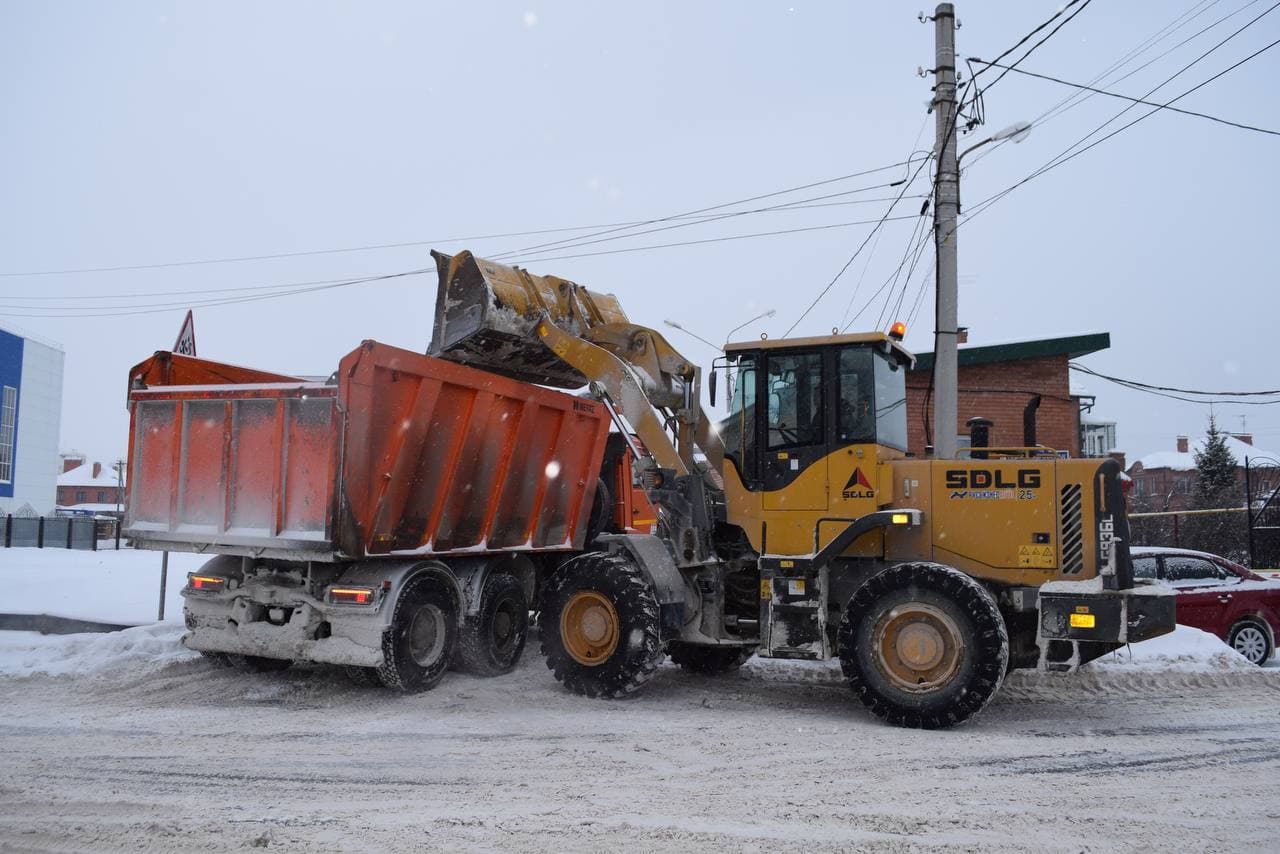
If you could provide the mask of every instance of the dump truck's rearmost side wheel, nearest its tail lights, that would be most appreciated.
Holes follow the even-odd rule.
[[[435,579],[410,581],[383,635],[378,677],[404,694],[430,690],[449,668],[457,640],[458,612],[451,593]]]

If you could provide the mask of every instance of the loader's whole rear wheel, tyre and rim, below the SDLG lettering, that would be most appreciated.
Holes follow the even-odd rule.
[[[890,723],[925,730],[986,708],[1009,663],[996,600],[940,563],[904,563],[868,579],[849,600],[837,641],[858,699]]]

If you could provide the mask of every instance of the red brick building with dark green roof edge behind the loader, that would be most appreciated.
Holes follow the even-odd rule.
[[[1105,332],[983,347],[961,346],[960,417],[955,425],[960,447],[968,447],[968,421],[975,416],[993,421],[993,447],[1023,447],[1028,405],[1039,398],[1034,410],[1037,444],[1068,451],[1073,457],[1080,456],[1082,396],[1071,394],[1068,361],[1110,346],[1111,335]],[[925,440],[925,417],[931,429],[933,425],[932,373],[933,353],[919,353],[915,367],[906,375],[908,449],[919,456],[929,444]]]

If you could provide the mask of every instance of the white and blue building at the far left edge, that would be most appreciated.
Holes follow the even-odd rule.
[[[63,351],[0,328],[0,515],[52,516]]]

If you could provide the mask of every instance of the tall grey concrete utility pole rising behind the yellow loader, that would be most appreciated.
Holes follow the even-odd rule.
[[[960,169],[956,164],[956,27],[955,6],[940,3],[933,13],[934,87],[937,118],[937,192],[933,201],[933,242],[937,246],[937,328],[933,344],[933,448],[940,460],[955,460],[959,415],[956,325],[956,216],[960,213]]]

